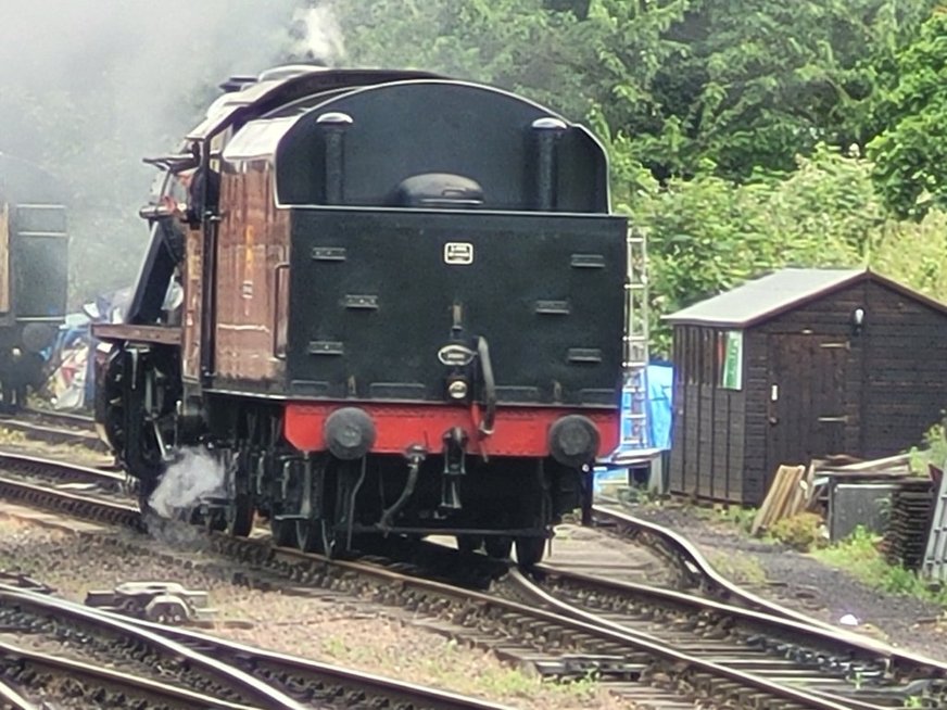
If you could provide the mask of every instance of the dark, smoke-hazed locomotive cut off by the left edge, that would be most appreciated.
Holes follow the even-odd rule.
[[[64,188],[38,166],[0,153],[0,385],[22,407],[41,380],[41,351],[65,316]]]

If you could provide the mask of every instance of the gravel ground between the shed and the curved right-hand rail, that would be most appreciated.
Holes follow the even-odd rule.
[[[947,660],[947,613],[914,597],[887,594],[810,555],[766,542],[716,521],[712,510],[668,504],[629,506],[630,512],[672,528],[694,543],[720,573],[754,593],[848,631]],[[709,519],[708,519],[709,517]]]

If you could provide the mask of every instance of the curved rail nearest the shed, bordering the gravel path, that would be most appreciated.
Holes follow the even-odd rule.
[[[920,654],[894,648],[872,638],[859,636],[743,589],[714,569],[710,562],[707,561],[707,558],[704,557],[691,541],[673,530],[598,505],[593,507],[593,511],[596,516],[615,522],[620,530],[623,528],[635,534],[643,532],[662,540],[684,560],[689,569],[698,576],[700,587],[710,596],[718,597],[730,604],[738,601],[746,605],[749,609],[773,617],[783,617],[806,626],[820,626],[826,633],[849,644],[853,648],[859,648],[864,652],[883,654],[888,659],[892,671],[895,673],[910,674],[923,672],[925,675],[947,677],[947,663],[936,661]],[[624,532],[624,530],[621,531]]]

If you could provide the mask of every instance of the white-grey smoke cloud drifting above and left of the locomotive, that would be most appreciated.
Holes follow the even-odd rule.
[[[331,64],[343,51],[331,13],[303,0],[7,4],[0,152],[64,183],[74,306],[135,278],[151,177],[140,157],[174,145],[222,77],[287,52]]]

